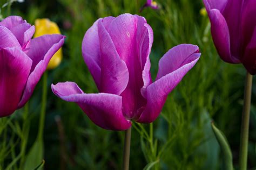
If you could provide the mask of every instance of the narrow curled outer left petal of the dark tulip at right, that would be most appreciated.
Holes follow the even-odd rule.
[[[211,21],[213,42],[221,59],[229,63],[239,63],[238,58],[231,54],[230,33],[225,18],[216,9],[210,11],[209,18]]]

